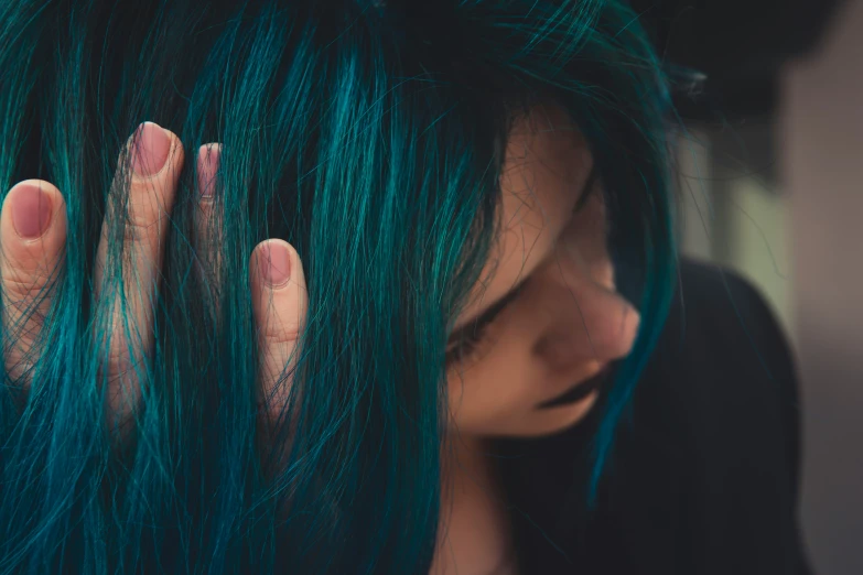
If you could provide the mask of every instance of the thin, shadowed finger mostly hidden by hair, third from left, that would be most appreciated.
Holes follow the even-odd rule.
[[[222,144],[202,145],[197,151],[198,200],[195,213],[195,251],[198,257],[198,273],[204,285],[209,288],[214,305],[218,302],[220,285],[219,234],[223,211],[216,205],[216,170],[222,156]],[[216,310],[218,314],[218,310]]]

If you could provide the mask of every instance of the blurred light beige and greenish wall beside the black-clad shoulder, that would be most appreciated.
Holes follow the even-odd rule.
[[[863,0],[787,66],[780,93],[775,118],[681,141],[681,250],[741,272],[784,324],[809,556],[816,574],[863,575]]]

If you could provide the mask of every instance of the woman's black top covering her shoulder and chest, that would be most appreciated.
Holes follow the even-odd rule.
[[[553,437],[495,443],[522,574],[810,573],[787,340],[740,276],[683,260],[680,278],[593,516],[582,463],[600,409]]]

